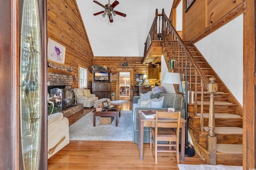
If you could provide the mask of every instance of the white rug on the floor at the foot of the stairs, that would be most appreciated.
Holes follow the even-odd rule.
[[[242,166],[178,164],[180,170],[242,170]]]

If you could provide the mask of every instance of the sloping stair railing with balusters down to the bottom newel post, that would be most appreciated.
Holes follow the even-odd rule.
[[[216,137],[214,133],[215,128],[215,117],[214,117],[214,94],[217,92],[217,83],[215,77],[211,77],[209,80],[204,74],[203,70],[199,66],[199,64],[196,62],[196,59],[193,57],[192,53],[187,48],[187,45],[182,41],[180,38],[180,35],[177,33],[176,29],[173,27],[172,23],[164,13],[164,9],[162,10],[162,39],[164,40],[164,47],[168,48],[171,51],[172,56],[167,56],[171,59],[175,59],[177,62],[176,67],[184,73],[184,65],[187,68],[187,62],[189,61],[190,64],[190,100],[189,103],[191,103],[191,94],[192,94],[192,69],[191,67],[194,67],[195,70],[195,107],[197,108],[197,77],[200,77],[200,87],[201,87],[201,117],[200,117],[200,130],[203,131],[204,127],[204,119],[203,119],[203,95],[204,90],[203,88],[206,87],[207,91],[210,94],[210,106],[209,106],[209,121],[208,121],[208,152],[210,154],[209,157],[209,163],[210,164],[216,164]],[[185,60],[184,60],[185,57]],[[180,64],[181,63],[181,64]],[[186,76],[186,75],[185,75]],[[187,94],[186,94],[187,95]],[[197,110],[194,110],[194,115],[196,116]]]

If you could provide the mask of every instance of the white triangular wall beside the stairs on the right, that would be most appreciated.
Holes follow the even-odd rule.
[[[195,45],[238,102],[243,105],[243,15]]]

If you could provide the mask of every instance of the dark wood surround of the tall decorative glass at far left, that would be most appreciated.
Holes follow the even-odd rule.
[[[20,145],[20,33],[24,0],[0,1],[0,169],[23,169]],[[47,8],[38,0],[42,53],[42,135],[40,169],[47,169]]]

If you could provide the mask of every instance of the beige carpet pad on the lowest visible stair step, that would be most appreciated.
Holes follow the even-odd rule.
[[[217,151],[228,154],[243,154],[243,145],[240,144],[217,144]]]

